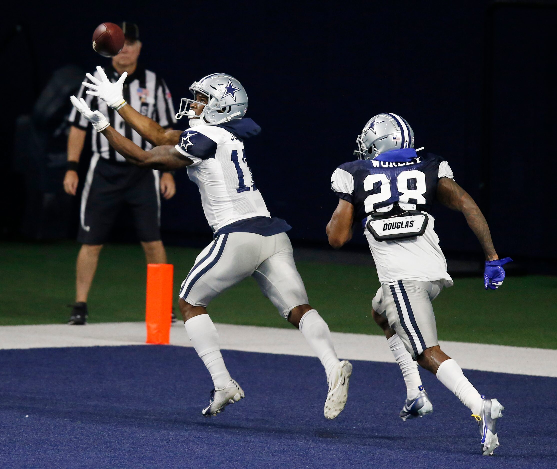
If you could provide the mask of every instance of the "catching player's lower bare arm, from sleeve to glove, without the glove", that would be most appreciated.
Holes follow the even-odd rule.
[[[133,141],[126,139],[114,127],[101,130],[110,145],[131,164],[142,168],[161,170],[180,169],[192,164],[192,160],[178,152],[174,145],[159,145],[145,151]]]

